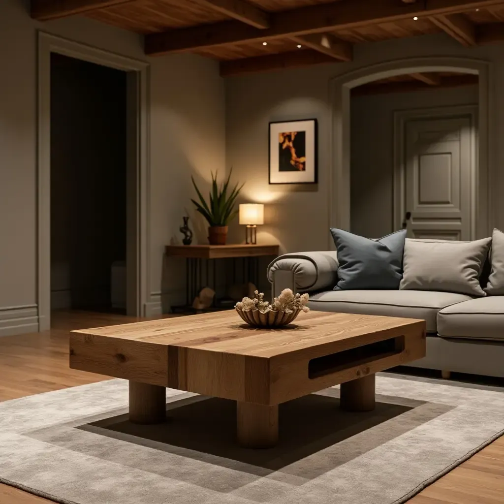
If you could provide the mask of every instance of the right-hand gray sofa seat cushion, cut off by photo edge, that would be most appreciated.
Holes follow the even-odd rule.
[[[504,296],[480,297],[443,308],[437,314],[437,332],[447,338],[504,341]]]

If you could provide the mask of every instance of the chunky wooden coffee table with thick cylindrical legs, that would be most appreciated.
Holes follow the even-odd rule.
[[[70,367],[130,381],[130,420],[165,419],[165,388],[232,399],[238,442],[278,440],[278,405],[341,384],[342,408],[374,408],[374,373],[425,356],[425,321],[309,311],[284,329],[234,310],[72,331]]]

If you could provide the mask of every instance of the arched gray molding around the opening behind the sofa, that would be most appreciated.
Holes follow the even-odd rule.
[[[332,79],[332,143],[329,189],[329,224],[350,229],[350,90],[377,79],[421,72],[458,72],[478,75],[478,163],[476,173],[476,237],[489,236],[489,223],[496,221],[495,148],[497,143],[495,119],[489,110],[494,103],[495,90],[489,85],[491,65],[488,61],[464,57],[414,57],[386,61]],[[328,246],[334,249],[332,239]]]

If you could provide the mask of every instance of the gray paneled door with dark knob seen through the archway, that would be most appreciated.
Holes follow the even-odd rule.
[[[408,236],[471,239],[473,117],[407,119],[403,139]]]

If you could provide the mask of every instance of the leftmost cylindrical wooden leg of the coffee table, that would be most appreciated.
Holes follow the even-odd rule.
[[[166,419],[166,388],[130,380],[130,422],[161,423]]]

